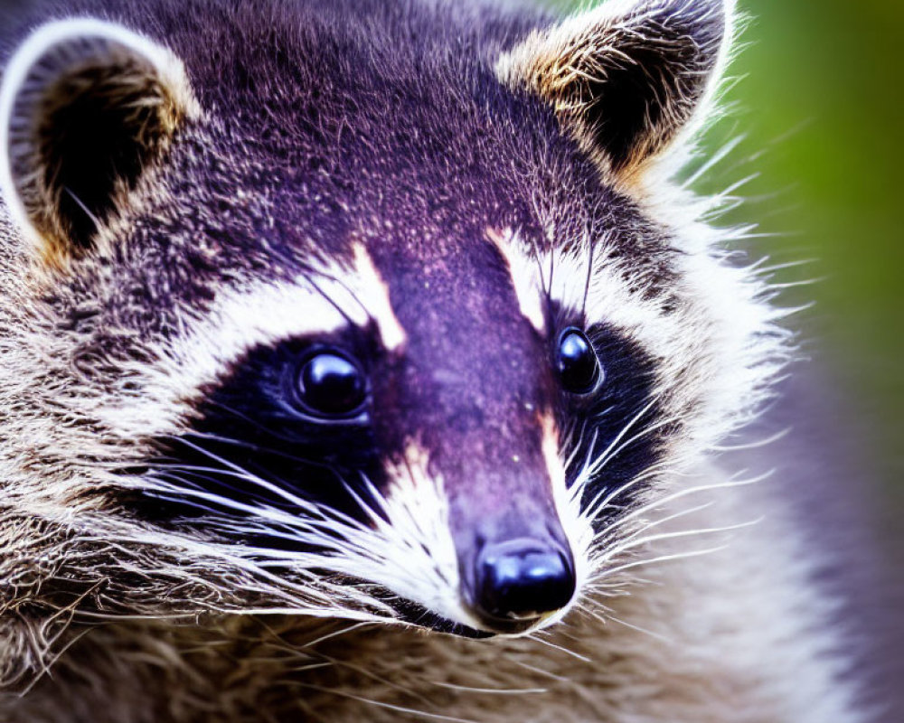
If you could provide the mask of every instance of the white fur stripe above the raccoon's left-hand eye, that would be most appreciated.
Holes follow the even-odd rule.
[[[354,249],[350,266],[324,266],[285,282],[234,286],[217,296],[211,310],[188,309],[185,315],[181,326],[189,333],[149,343],[152,362],[135,362],[135,370],[124,364],[122,378],[142,383],[100,410],[111,428],[134,437],[177,433],[205,389],[258,346],[368,324],[375,324],[388,351],[405,343],[387,288],[363,247]]]

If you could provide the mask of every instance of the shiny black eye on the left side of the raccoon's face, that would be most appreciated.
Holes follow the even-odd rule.
[[[309,356],[298,371],[297,395],[318,417],[351,417],[367,399],[367,379],[357,364],[338,352]]]

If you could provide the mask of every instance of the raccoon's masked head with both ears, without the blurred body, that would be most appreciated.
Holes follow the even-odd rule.
[[[729,19],[34,33],[0,93],[4,465],[58,593],[470,635],[591,594],[772,369],[758,284],[662,208]]]

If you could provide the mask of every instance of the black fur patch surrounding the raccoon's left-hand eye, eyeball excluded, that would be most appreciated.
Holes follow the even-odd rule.
[[[255,518],[254,512],[237,511],[230,502],[301,514],[283,491],[366,522],[361,502],[370,499],[372,489],[379,492],[385,486],[370,406],[355,418],[327,421],[306,414],[293,397],[307,355],[336,347],[353,353],[365,371],[381,366],[381,352],[360,330],[287,340],[237,360],[205,396],[191,431],[157,440],[160,455],[145,474],[183,492],[133,499],[132,509],[165,524],[201,526],[201,518]],[[194,493],[216,495],[222,502]],[[250,537],[269,547],[292,547],[290,540],[263,533]]]

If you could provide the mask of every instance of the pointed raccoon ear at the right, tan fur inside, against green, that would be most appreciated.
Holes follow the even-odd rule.
[[[611,0],[532,33],[496,72],[549,101],[598,164],[629,179],[692,126],[733,9],[734,0]]]

